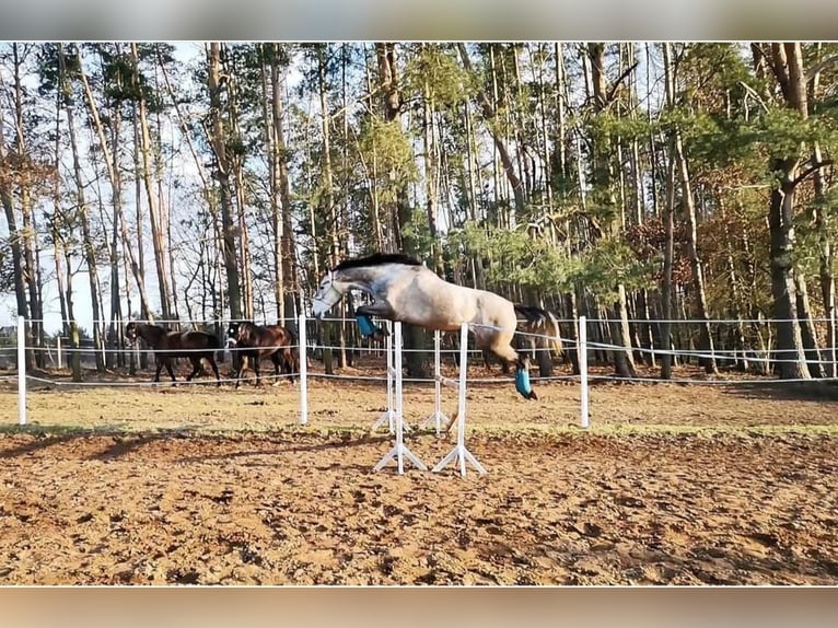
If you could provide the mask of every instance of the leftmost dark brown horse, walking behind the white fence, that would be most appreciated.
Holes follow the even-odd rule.
[[[193,364],[193,372],[186,376],[189,382],[201,370],[201,359],[207,360],[216,374],[217,386],[221,385],[221,376],[216,364],[216,350],[222,349],[218,337],[207,332],[170,332],[160,325],[148,323],[135,323],[131,321],[125,327],[125,337],[129,345],[135,345],[137,338],[146,340],[146,344],[154,349],[156,371],[154,381],[160,382],[160,371],[166,368],[172,381],[175,382],[175,372],[172,369],[174,358],[188,358]]]

